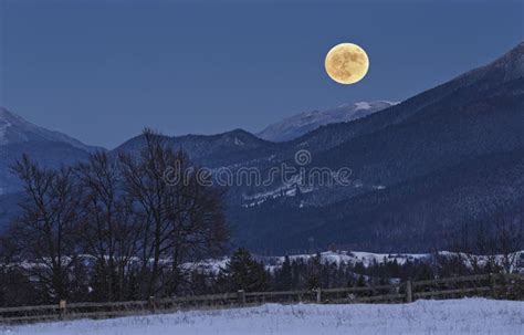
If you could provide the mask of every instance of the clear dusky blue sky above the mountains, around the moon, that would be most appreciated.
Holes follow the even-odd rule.
[[[0,0],[0,104],[113,148],[251,132],[346,102],[401,101],[523,40],[522,1]],[[324,56],[361,45],[368,75],[338,85]]]

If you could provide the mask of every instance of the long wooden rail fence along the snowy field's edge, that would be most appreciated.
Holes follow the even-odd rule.
[[[390,285],[318,289],[313,291],[243,292],[150,297],[147,301],[111,303],[66,303],[0,308],[0,323],[29,323],[72,318],[107,318],[126,315],[167,313],[191,308],[253,306],[262,303],[400,303],[418,299],[463,296],[524,299],[524,274],[481,274]]]

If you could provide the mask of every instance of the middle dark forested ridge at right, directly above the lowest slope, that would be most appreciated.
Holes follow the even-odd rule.
[[[368,184],[391,185],[491,153],[524,146],[524,80],[492,91],[467,87],[408,121],[315,157],[350,167]]]

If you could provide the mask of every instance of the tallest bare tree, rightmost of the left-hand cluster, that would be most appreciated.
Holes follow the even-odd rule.
[[[228,239],[222,192],[199,182],[198,174],[185,174],[195,171],[188,157],[175,153],[164,136],[146,129],[143,138],[138,157],[120,155],[122,174],[144,224],[142,274],[149,275],[146,293],[156,294],[163,286],[170,294],[180,282],[182,260],[216,251]],[[168,171],[179,178],[167,180]],[[170,275],[159,285],[166,271]]]

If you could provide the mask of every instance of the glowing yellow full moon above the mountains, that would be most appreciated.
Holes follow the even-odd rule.
[[[359,82],[369,69],[369,59],[364,49],[353,43],[340,43],[332,48],[325,61],[327,75],[339,84]]]

